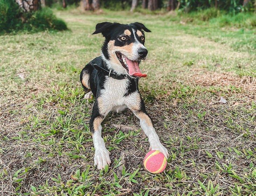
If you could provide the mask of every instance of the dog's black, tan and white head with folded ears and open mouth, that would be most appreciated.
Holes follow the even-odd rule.
[[[150,32],[139,22],[129,25],[102,22],[96,25],[93,34],[101,33],[105,37],[102,56],[110,69],[131,77],[146,77],[139,68],[140,61],[148,54],[144,47],[144,31]]]

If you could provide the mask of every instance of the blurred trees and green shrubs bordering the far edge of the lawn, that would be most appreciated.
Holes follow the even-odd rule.
[[[0,33],[17,31],[66,30],[52,9],[80,7],[102,13],[103,10],[165,14],[186,18],[186,22],[209,21],[220,26],[254,28],[255,0],[0,0]]]

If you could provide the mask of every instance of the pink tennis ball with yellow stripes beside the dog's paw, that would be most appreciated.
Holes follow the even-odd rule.
[[[150,173],[159,174],[166,168],[167,160],[160,151],[150,151],[146,154],[143,163]]]

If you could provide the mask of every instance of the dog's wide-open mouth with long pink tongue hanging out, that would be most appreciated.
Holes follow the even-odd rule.
[[[130,76],[147,77],[147,74],[141,73],[141,70],[139,67],[140,61],[132,61],[128,59],[126,56],[124,56],[123,54],[121,54],[120,52],[116,52],[116,56]]]

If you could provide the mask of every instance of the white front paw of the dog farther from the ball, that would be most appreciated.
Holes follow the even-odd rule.
[[[104,169],[106,165],[110,165],[109,152],[107,148],[95,151],[94,166],[97,165],[97,169]]]

